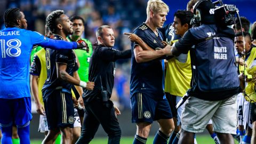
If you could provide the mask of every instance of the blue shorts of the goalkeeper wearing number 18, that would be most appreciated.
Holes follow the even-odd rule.
[[[25,127],[32,119],[31,98],[2,99],[0,98],[0,126]]]

